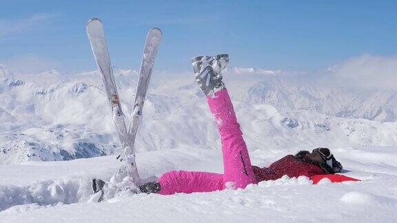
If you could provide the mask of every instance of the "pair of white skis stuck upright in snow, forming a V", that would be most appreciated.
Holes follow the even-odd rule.
[[[141,178],[139,177],[139,172],[135,162],[134,141],[139,124],[142,120],[143,103],[145,103],[147,87],[149,86],[154,61],[161,42],[161,30],[159,28],[152,28],[147,33],[141,69],[139,72],[139,81],[136,87],[134,107],[132,108],[132,114],[128,126],[125,125],[126,117],[121,109],[116,81],[114,81],[112,63],[110,62],[103,23],[99,19],[91,19],[87,23],[86,30],[88,39],[90,39],[96,65],[98,66],[99,73],[102,77],[103,87],[105,88],[110,108],[112,109],[113,120],[116,124],[117,134],[119,136],[119,142],[122,149],[121,156],[119,158],[119,170],[114,174],[110,182],[113,182],[114,184],[119,184],[120,182],[126,182],[128,184],[132,183],[136,187],[139,187],[141,184]],[[103,193],[103,191],[101,192]]]

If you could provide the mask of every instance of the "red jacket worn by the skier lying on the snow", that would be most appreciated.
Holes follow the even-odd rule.
[[[290,178],[307,176],[313,181],[314,184],[323,178],[328,178],[332,182],[343,182],[347,180],[358,181],[357,179],[349,178],[339,174],[326,174],[325,171],[323,171],[323,169],[318,167],[316,164],[297,160],[292,155],[288,155],[284,158],[281,158],[280,160],[277,160],[269,167],[261,168],[252,166],[252,169],[254,170],[254,174],[258,182],[263,180],[277,180],[284,175],[287,175]]]

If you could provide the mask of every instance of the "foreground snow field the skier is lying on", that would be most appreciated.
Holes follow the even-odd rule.
[[[114,156],[63,162],[4,165],[0,182],[0,222],[394,222],[397,218],[397,147],[334,148],[347,176],[362,182],[313,185],[286,176],[226,190],[190,195],[121,193],[87,203],[90,178],[109,179]],[[252,153],[254,164],[269,164],[274,149]],[[141,176],[172,169],[220,172],[219,151],[176,149],[141,152]],[[15,186],[18,185],[18,186]]]

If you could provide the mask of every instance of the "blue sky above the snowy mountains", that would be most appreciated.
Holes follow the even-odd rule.
[[[117,67],[137,69],[147,30],[159,27],[156,70],[187,71],[192,56],[220,53],[238,67],[320,70],[396,55],[396,12],[397,1],[2,0],[0,63],[94,70],[85,23],[98,17]]]

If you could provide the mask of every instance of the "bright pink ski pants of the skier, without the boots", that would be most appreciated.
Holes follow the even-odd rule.
[[[223,190],[225,187],[245,188],[257,183],[250,156],[237,123],[236,114],[226,89],[207,96],[207,103],[221,135],[224,173],[170,171],[159,178],[163,195]]]

